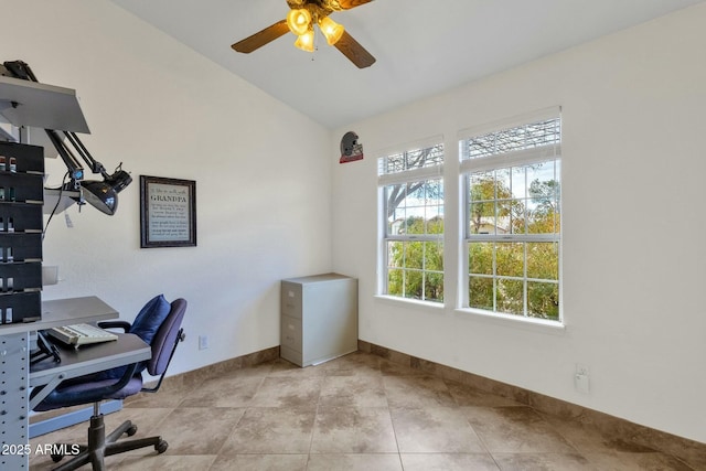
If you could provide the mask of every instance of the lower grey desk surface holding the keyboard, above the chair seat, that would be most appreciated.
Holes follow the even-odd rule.
[[[30,367],[30,386],[47,384],[57,374],[64,379],[149,360],[150,346],[131,333],[117,334],[118,340],[83,345],[78,350],[56,343],[61,363],[43,360]]]

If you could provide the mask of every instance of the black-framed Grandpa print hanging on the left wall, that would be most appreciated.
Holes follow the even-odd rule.
[[[140,247],[196,246],[196,182],[140,175]]]

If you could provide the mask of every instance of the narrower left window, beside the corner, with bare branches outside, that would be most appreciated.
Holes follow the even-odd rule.
[[[385,295],[443,301],[443,144],[382,157]]]

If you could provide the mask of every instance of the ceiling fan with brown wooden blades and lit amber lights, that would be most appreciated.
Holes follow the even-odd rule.
[[[334,11],[350,10],[371,1],[373,0],[287,0],[290,11],[286,20],[278,21],[231,47],[248,54],[285,33],[292,32],[297,35],[295,42],[297,47],[313,52],[313,26],[317,24],[330,45],[341,51],[359,68],[370,67],[375,62],[375,57],[342,25],[331,20],[329,14]]]

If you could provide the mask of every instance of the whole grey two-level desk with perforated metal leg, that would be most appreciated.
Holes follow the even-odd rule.
[[[96,297],[69,298],[42,302],[40,321],[0,325],[0,395],[2,396],[0,415],[3,416],[0,421],[0,469],[29,469],[29,456],[15,451],[23,450],[22,447],[29,443],[30,384],[34,386],[55,381],[56,372],[51,371],[54,368],[64,367],[64,374],[72,375],[66,377],[74,377],[150,357],[149,353],[143,356],[146,353],[143,349],[149,352],[145,343],[139,345],[129,341],[131,347],[138,351],[135,357],[125,352],[113,352],[108,355],[107,363],[101,363],[97,350],[85,357],[82,355],[86,352],[78,351],[74,352],[76,356],[73,360],[71,355],[63,355],[62,363],[50,361],[47,362],[50,365],[38,368],[35,374],[34,371],[30,372],[30,332],[117,317],[118,311]],[[122,343],[113,345],[113,347],[118,346],[126,345]]]

